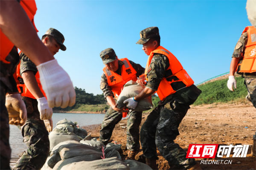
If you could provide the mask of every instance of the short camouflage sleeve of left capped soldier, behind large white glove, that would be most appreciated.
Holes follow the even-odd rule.
[[[36,74],[38,70],[37,70],[34,62],[32,62],[29,59],[29,57],[27,57],[24,53],[21,53],[20,54],[20,75],[24,71],[33,71],[34,74]]]

